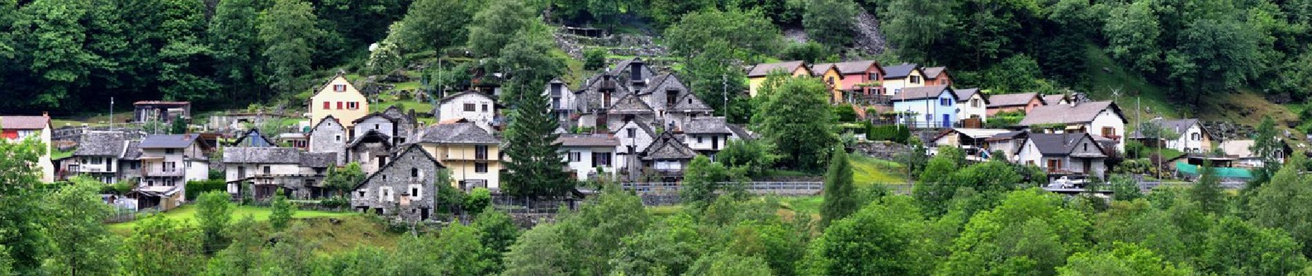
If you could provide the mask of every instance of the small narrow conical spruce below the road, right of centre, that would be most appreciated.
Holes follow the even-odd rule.
[[[848,152],[841,148],[830,152],[833,153],[829,154],[829,170],[824,174],[824,203],[820,204],[821,226],[842,220],[861,208],[857,188],[851,186],[851,164],[848,162]]]

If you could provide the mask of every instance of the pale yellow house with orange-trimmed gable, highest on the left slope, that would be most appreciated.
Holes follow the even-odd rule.
[[[310,97],[310,126],[315,126],[323,118],[332,115],[337,118],[348,129],[356,119],[369,115],[369,99],[359,94],[350,81],[341,73],[333,76],[328,84],[319,88],[314,97]]]

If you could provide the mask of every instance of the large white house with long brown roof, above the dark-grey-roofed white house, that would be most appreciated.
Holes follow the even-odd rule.
[[[1117,141],[1117,150],[1126,150],[1126,116],[1120,107],[1111,101],[1102,102],[1065,102],[1060,105],[1039,106],[1030,110],[1021,120],[1021,126],[1057,127],[1051,132],[1086,132]],[[1031,129],[1038,132],[1038,129]]]

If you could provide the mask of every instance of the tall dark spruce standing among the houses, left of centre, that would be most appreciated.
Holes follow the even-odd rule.
[[[513,196],[562,196],[573,188],[560,160],[555,133],[559,123],[547,114],[547,97],[541,85],[516,85],[509,89],[521,95],[520,106],[510,115],[505,131],[505,154],[510,158],[505,175],[505,192]]]

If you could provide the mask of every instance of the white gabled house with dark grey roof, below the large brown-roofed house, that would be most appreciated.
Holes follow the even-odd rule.
[[[1107,171],[1107,152],[1092,135],[1082,132],[1030,133],[1022,141],[1017,160],[1043,167],[1050,177],[1077,174],[1102,178]]]

